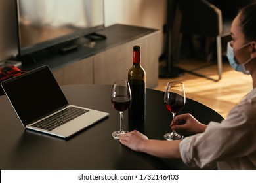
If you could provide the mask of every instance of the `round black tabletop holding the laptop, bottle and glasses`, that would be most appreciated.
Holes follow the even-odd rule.
[[[134,152],[112,139],[111,133],[119,129],[119,112],[112,108],[110,85],[61,88],[70,104],[109,112],[110,116],[65,140],[25,130],[7,97],[0,96],[1,169],[190,169],[181,160]],[[170,131],[172,119],[163,103],[163,94],[146,89],[144,125],[132,126],[125,111],[123,128],[129,131],[136,128],[150,139],[163,139],[163,135]],[[217,112],[192,99],[186,99],[180,113],[186,112],[205,124],[223,120]]]

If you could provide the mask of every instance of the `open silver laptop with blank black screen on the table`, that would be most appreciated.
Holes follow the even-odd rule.
[[[1,82],[26,129],[68,138],[109,116],[70,105],[47,65]]]

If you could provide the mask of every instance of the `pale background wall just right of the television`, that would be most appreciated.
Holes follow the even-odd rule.
[[[104,0],[105,26],[127,24],[162,30],[166,22],[166,2],[167,0]],[[161,42],[163,43],[163,37]]]

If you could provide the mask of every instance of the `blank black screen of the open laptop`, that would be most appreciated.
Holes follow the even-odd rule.
[[[2,85],[25,126],[68,105],[47,66],[7,80]]]

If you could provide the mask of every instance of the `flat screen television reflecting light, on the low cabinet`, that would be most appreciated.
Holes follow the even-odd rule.
[[[104,28],[104,0],[17,0],[19,55]]]

